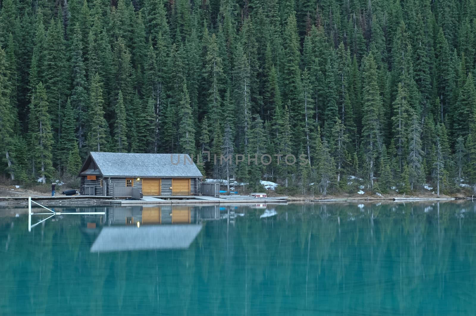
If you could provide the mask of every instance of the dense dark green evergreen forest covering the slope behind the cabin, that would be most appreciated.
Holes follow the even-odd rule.
[[[476,0],[0,7],[3,182],[111,151],[188,153],[250,190],[476,191]]]

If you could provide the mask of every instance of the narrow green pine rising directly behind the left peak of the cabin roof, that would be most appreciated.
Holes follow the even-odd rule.
[[[93,76],[89,87],[88,144],[90,151],[105,151],[109,144],[109,127],[104,119],[104,99],[99,74]]]

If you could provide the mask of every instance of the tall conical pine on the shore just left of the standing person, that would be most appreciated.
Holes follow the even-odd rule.
[[[53,175],[53,135],[51,132],[46,90],[41,82],[36,86],[31,98],[29,132],[33,164],[41,177],[41,183],[45,184],[46,178],[50,178]]]

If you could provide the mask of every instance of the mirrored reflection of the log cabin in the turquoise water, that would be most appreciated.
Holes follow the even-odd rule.
[[[106,216],[91,252],[187,249],[204,220],[220,219],[216,206],[112,207]]]

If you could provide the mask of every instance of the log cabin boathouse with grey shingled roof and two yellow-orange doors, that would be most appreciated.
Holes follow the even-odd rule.
[[[202,174],[188,154],[91,152],[79,177],[83,194],[139,188],[144,196],[189,196],[199,194]]]

